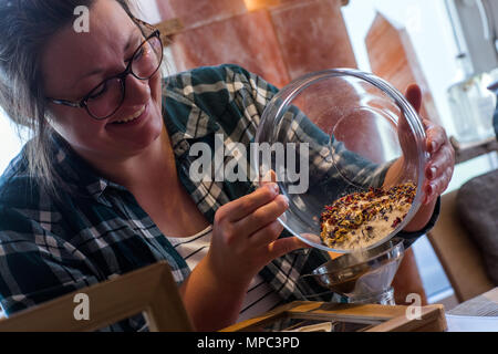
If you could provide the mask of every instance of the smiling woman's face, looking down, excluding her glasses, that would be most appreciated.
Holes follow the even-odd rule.
[[[45,95],[80,101],[103,80],[123,72],[143,41],[142,32],[116,1],[96,0],[87,33],[68,27],[44,49]],[[51,124],[91,162],[123,160],[144,152],[160,135],[160,106],[159,71],[145,81],[127,75],[124,101],[112,116],[96,121],[84,108],[51,103]],[[138,114],[136,121],[117,123]]]

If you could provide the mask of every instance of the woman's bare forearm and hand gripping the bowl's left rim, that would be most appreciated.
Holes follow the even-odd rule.
[[[197,331],[234,324],[252,278],[271,260],[307,247],[295,237],[278,239],[283,227],[277,218],[288,206],[272,183],[217,210],[208,254],[180,285]]]

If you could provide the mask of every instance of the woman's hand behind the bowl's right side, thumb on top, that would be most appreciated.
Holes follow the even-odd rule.
[[[418,85],[408,86],[405,96],[412,106],[419,112],[422,92]],[[455,150],[446,136],[445,129],[428,119],[423,119],[422,123],[426,134],[426,150],[429,153],[429,158],[424,169],[426,177],[426,183],[423,186],[424,200],[418,212],[406,226],[406,231],[417,231],[427,225],[434,212],[437,197],[448,187],[455,168]],[[403,128],[402,125],[403,122],[401,122],[401,128]],[[413,150],[409,144],[414,142],[411,142],[406,135],[400,133],[400,143],[404,155],[409,155]],[[409,157],[406,160],[409,160]],[[408,164],[408,162],[404,163],[405,169],[411,169]]]

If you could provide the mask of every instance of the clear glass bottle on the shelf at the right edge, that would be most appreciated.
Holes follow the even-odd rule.
[[[492,115],[497,97],[487,87],[498,80],[498,69],[489,73],[473,74],[465,53],[457,55],[460,77],[447,91],[449,108],[459,143],[476,143],[494,136]]]

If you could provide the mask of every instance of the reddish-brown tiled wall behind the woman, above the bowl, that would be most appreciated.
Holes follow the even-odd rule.
[[[355,67],[344,0],[157,0],[186,30],[172,45],[179,71],[236,63],[282,86],[312,71]]]

